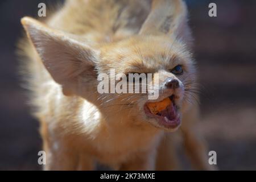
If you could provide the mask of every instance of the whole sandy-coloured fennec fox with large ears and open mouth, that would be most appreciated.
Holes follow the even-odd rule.
[[[72,0],[44,23],[21,20],[28,40],[31,102],[41,123],[46,170],[176,169],[179,128],[197,169],[210,169],[195,130],[196,71],[189,52],[187,7],[179,0]],[[156,100],[147,93],[103,93],[98,75],[158,73]],[[148,102],[168,106],[157,114]],[[178,131],[177,131],[178,132]],[[176,133],[177,133],[176,132]]]

